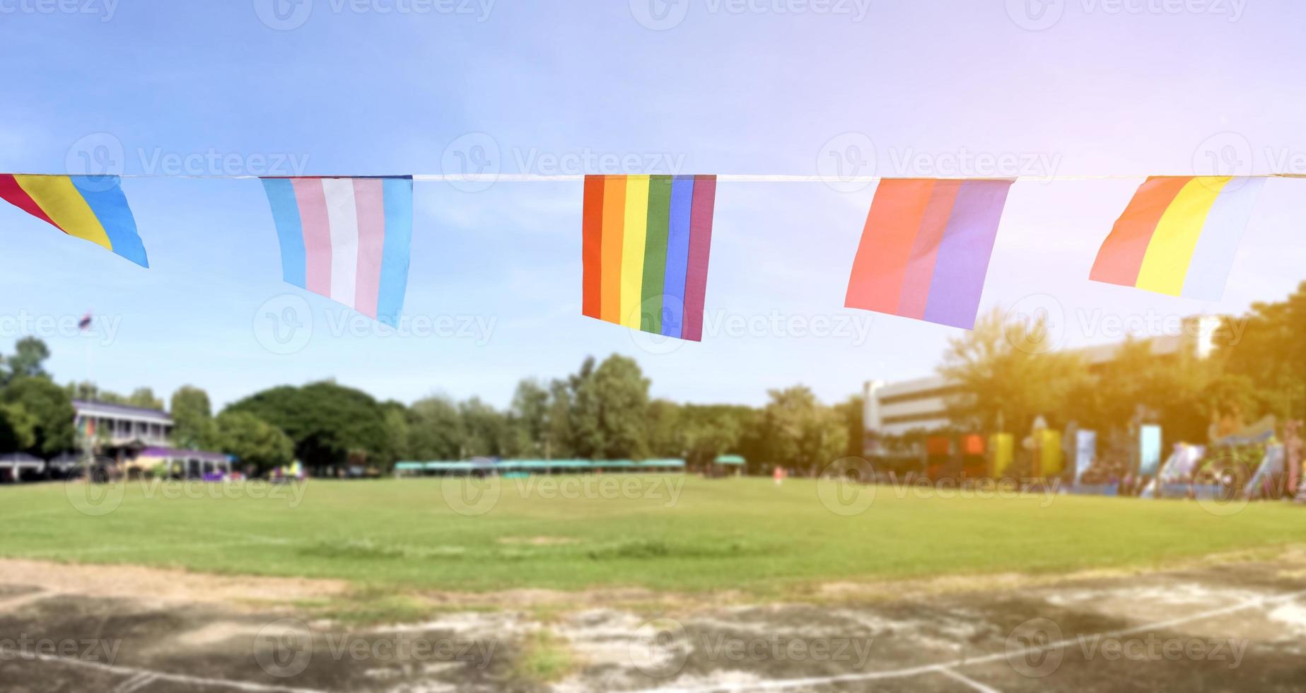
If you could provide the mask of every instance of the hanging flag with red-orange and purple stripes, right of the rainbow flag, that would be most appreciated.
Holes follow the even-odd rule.
[[[973,329],[1012,183],[882,180],[844,305]]]

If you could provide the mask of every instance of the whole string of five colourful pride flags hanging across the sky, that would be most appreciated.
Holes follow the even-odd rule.
[[[397,326],[407,290],[413,181],[584,179],[581,313],[703,339],[720,181],[784,175],[414,175],[260,177],[282,279]],[[0,174],[0,198],[69,236],[149,268],[121,177]],[[256,177],[256,176],[195,176]],[[1055,176],[1041,180],[1138,176]],[[1102,241],[1089,279],[1220,300],[1267,177],[1148,177]],[[879,181],[853,254],[845,307],[973,329],[1016,179]]]

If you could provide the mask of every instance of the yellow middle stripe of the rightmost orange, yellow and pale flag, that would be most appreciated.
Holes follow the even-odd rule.
[[[1198,176],[1179,191],[1156,224],[1134,286],[1171,296],[1183,294],[1183,279],[1207,215],[1230,180],[1233,176]]]

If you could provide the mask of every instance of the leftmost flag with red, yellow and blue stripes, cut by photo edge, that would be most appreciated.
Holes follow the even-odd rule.
[[[0,198],[114,253],[150,266],[136,218],[118,176],[30,176],[0,174]]]

